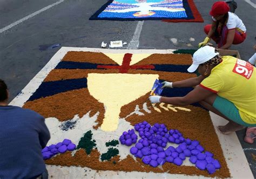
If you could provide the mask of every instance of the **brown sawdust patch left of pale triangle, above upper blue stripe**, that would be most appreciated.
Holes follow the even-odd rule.
[[[87,63],[98,63],[98,64],[114,64],[118,65],[115,61],[110,59],[104,53],[101,52],[75,52],[70,51],[66,53],[62,61],[73,61],[73,62],[87,62]]]

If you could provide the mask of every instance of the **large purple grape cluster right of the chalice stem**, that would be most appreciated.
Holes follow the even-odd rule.
[[[211,152],[205,151],[199,141],[185,139],[178,130],[167,130],[164,124],[158,123],[151,126],[146,121],[136,124],[134,129],[139,133],[141,139],[130,148],[130,152],[142,159],[145,164],[157,167],[165,162],[170,162],[181,166],[186,157],[190,157],[191,163],[196,164],[196,167],[200,170],[206,169],[209,174],[213,174],[216,169],[220,169],[219,161],[213,158]],[[136,140],[133,140],[131,134],[135,134],[133,129],[124,132],[119,138],[121,143],[127,146],[131,146],[132,143],[135,144],[137,135],[135,134]],[[130,136],[126,138],[126,135]],[[126,142],[127,140],[129,142]],[[178,147],[170,146],[166,148],[168,142],[177,144]]]

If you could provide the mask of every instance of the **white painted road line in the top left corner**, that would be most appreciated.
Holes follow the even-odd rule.
[[[64,0],[60,0],[60,1],[56,2],[56,3],[53,3],[53,4],[51,4],[51,5],[46,6],[45,8],[43,8],[43,9],[41,9],[41,10],[38,10],[38,11],[36,11],[36,12],[31,13],[30,15],[28,15],[28,16],[26,16],[26,17],[23,17],[22,19],[19,19],[19,20],[17,20],[16,22],[14,22],[14,23],[12,23],[12,24],[10,24],[10,25],[8,25],[8,26],[6,26],[6,27],[4,27],[4,28],[1,28],[1,29],[0,29],[0,33],[3,33],[4,31],[6,31],[6,30],[8,30],[8,29],[10,29],[10,28],[12,28],[12,27],[14,27],[14,26],[16,26],[16,25],[22,23],[22,22],[24,22],[25,20],[28,20],[28,19],[31,18],[31,17],[36,16],[36,15],[38,15],[39,13],[41,13],[41,12],[43,12],[43,11],[46,11],[46,10],[52,8],[53,6],[58,5],[58,4],[62,3],[62,2],[64,2]]]

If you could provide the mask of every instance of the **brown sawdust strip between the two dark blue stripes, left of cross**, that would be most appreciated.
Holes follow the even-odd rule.
[[[118,73],[118,69],[53,69],[44,82],[87,78],[89,73]]]

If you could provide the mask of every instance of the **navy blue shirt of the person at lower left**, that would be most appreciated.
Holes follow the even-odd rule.
[[[45,171],[41,154],[50,139],[44,118],[17,106],[0,106],[0,178],[34,178]]]

